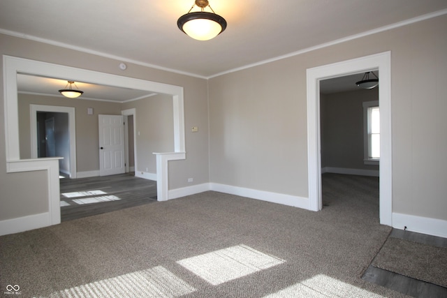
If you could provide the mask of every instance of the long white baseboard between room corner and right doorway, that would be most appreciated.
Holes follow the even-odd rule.
[[[270,191],[258,191],[251,188],[242,188],[217,183],[211,183],[210,190],[310,210],[309,199],[295,195],[284,195],[283,193],[271,193]]]

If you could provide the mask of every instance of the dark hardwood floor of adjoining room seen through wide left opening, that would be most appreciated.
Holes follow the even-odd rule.
[[[61,221],[156,202],[156,181],[135,177],[133,172],[59,181]]]

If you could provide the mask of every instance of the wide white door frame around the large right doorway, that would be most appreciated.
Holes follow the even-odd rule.
[[[318,66],[307,69],[307,161],[309,209],[322,208],[321,192],[321,134],[320,80],[342,77],[378,69],[380,73],[380,150],[379,217],[383,225],[393,225],[393,167],[391,135],[391,52]]]

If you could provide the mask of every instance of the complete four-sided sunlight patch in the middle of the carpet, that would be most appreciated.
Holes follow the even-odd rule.
[[[219,285],[284,262],[241,244],[179,260],[177,263],[212,285]]]

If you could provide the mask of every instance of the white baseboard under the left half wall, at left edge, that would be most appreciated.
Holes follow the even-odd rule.
[[[44,228],[49,225],[51,225],[51,216],[48,212],[6,219],[0,221],[0,236]]]

